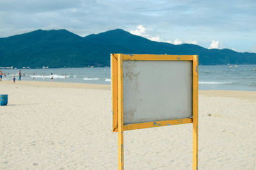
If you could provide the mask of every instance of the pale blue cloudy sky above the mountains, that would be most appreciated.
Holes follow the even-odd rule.
[[[36,29],[124,29],[154,41],[256,52],[256,1],[0,0],[0,38]]]

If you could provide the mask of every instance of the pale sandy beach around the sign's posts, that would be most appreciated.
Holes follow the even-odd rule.
[[[0,81],[0,169],[118,169],[109,85]],[[198,169],[256,169],[256,92],[200,90]],[[124,132],[125,169],[192,169],[192,124]]]

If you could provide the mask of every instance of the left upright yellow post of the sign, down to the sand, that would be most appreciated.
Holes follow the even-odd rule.
[[[118,169],[124,169],[123,59],[118,54]]]

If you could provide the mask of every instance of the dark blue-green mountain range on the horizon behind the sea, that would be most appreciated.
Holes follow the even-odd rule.
[[[256,64],[256,53],[150,41],[122,29],[86,37],[38,29],[0,38],[0,67],[104,67],[110,65],[110,53],[197,54],[200,65]]]

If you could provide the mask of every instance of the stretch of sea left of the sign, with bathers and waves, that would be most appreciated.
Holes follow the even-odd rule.
[[[1,69],[0,69],[1,70]],[[16,80],[19,79],[18,73],[22,72],[24,81],[53,81],[69,83],[93,83],[110,84],[109,67],[84,67],[84,68],[58,68],[58,69],[2,69],[2,72],[8,73],[5,80],[12,80],[15,74]],[[44,74],[44,76],[43,76]],[[67,74],[67,76],[65,76]]]

